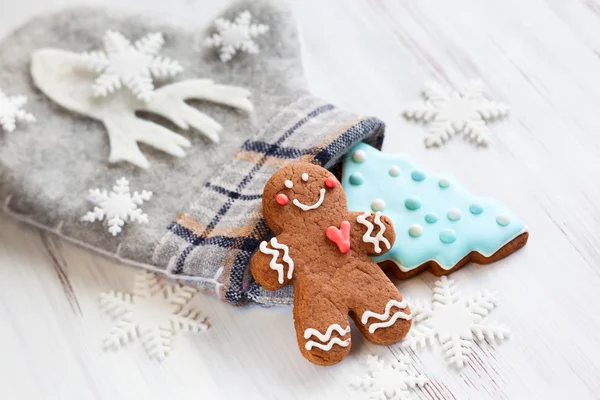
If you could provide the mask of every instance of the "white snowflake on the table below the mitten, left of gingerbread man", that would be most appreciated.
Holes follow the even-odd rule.
[[[136,338],[150,356],[162,361],[171,352],[171,339],[180,331],[208,329],[198,310],[188,303],[196,289],[165,283],[151,272],[140,272],[133,294],[110,291],[100,295],[100,309],[116,320],[104,347],[119,349]]]

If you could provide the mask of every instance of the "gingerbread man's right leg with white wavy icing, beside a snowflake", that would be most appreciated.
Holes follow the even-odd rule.
[[[383,272],[380,272],[382,275]],[[408,304],[392,282],[385,279],[363,280],[358,295],[349,301],[352,319],[367,340],[392,344],[404,338],[412,323]]]

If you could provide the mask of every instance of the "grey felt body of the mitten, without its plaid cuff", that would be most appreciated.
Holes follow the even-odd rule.
[[[256,39],[260,54],[238,52],[225,64],[215,49],[194,50],[198,31],[185,31],[122,11],[65,10],[33,19],[9,35],[0,44],[0,88],[8,96],[27,96],[26,109],[37,122],[19,124],[10,133],[0,132],[0,199],[5,211],[121,261],[168,272],[169,260],[153,257],[170,223],[194,203],[206,182],[222,172],[246,140],[282,108],[308,95],[289,7],[277,0],[244,1],[229,8],[224,16],[233,19],[243,10],[252,13],[253,22],[266,24],[270,30]],[[212,27],[207,29],[213,32]],[[254,111],[188,102],[223,126],[218,144],[193,129],[180,130],[167,120],[143,115],[188,138],[192,144],[185,149],[186,156],[173,157],[140,144],[150,169],[125,162],[109,164],[110,147],[103,124],[52,102],[35,87],[30,76],[34,51],[55,48],[80,53],[102,49],[101,38],[107,30],[119,31],[132,42],[148,33],[162,32],[165,44],[159,54],[178,60],[184,68],[167,83],[208,78],[240,86],[250,90]],[[160,87],[160,81],[155,80],[155,84]],[[306,140],[316,142],[318,138],[309,134]],[[120,177],[129,180],[132,192],[150,190],[154,196],[141,206],[149,223],[127,223],[123,232],[113,237],[104,222],[87,223],[80,218],[93,208],[86,200],[88,190],[110,190]],[[266,181],[268,176],[261,179]],[[204,206],[210,209],[211,204]],[[202,278],[206,274],[206,278],[212,278],[214,268],[210,272],[196,268],[187,277]]]

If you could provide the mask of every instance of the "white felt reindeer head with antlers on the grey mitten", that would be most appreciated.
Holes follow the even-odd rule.
[[[221,125],[187,105],[185,100],[206,100],[252,111],[248,90],[218,85],[208,79],[166,84],[154,90],[148,101],[137,98],[129,90],[95,97],[92,85],[97,74],[90,71],[85,55],[57,49],[41,49],[33,53],[31,76],[37,87],[54,102],[104,123],[110,144],[110,163],[126,161],[141,168],[149,168],[150,163],[137,142],[183,157],[183,148],[189,147],[190,141],[157,123],[137,117],[136,111],[158,114],[181,129],[191,126],[215,143],[219,142]]]

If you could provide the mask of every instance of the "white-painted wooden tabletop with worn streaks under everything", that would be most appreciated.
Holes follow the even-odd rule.
[[[92,1],[88,1],[92,3]],[[0,1],[0,36],[72,0]],[[94,1],[99,3],[99,1]],[[219,0],[111,0],[155,6],[202,26]],[[326,4],[325,4],[326,3]],[[411,352],[353,336],[350,356],[316,367],[297,347],[289,308],[194,302],[211,328],[180,334],[162,363],[139,343],[102,350],[112,321],[98,295],[130,291],[135,271],[0,217],[0,399],[365,398],[348,382],[368,354],[408,354],[431,379],[422,399],[592,399],[600,396],[600,2],[598,0],[296,1],[314,92],[388,125],[384,149],[450,170],[501,198],[529,225],[528,245],[453,274],[464,293],[500,291],[494,317],[512,337],[475,347],[456,371],[439,349]],[[1,67],[1,60],[0,60]],[[512,106],[492,145],[462,138],[427,150],[425,128],[400,117],[424,81],[481,78]],[[40,138],[43,140],[43,138]],[[398,286],[429,299],[435,278]]]

